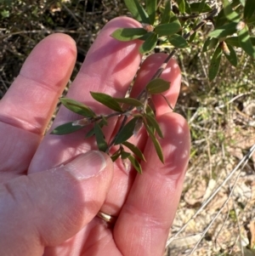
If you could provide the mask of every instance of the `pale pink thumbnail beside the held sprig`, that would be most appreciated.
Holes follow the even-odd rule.
[[[89,151],[67,163],[65,170],[76,179],[88,179],[99,174],[105,167],[105,157],[99,151]]]

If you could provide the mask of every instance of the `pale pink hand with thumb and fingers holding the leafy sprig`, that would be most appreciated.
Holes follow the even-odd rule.
[[[89,91],[123,97],[141,60],[139,45],[110,37],[118,27],[140,26],[135,20],[111,20],[89,50],[67,97],[108,114]],[[0,101],[0,247],[1,255],[162,255],[178,208],[190,154],[190,132],[183,117],[156,96],[156,116],[164,139],[162,164],[142,129],[130,139],[143,150],[143,174],[95,153],[94,139],[84,131],[58,136],[44,131],[76,61],[71,37],[46,37],[28,56],[20,75]],[[133,97],[166,58],[145,60]],[[165,96],[174,106],[180,70],[171,60],[162,76],[171,82]],[[61,107],[53,127],[79,117]],[[109,141],[119,122],[105,128]],[[112,149],[113,150],[113,149]],[[91,170],[100,170],[92,174]],[[78,176],[76,175],[78,174]],[[101,210],[116,216],[109,227],[96,217]]]

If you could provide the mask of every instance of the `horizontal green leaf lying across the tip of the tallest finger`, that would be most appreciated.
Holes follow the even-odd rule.
[[[141,27],[119,28],[111,34],[111,37],[119,41],[127,42],[144,36],[147,31]]]

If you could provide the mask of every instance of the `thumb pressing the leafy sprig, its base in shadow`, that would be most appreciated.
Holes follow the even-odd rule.
[[[42,255],[99,212],[111,185],[111,158],[89,151],[59,168],[0,186],[2,255]]]

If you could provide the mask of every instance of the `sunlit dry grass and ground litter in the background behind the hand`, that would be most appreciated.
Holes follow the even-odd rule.
[[[61,31],[76,40],[75,77],[99,30],[108,20],[126,14],[120,0],[37,1],[37,4],[35,1],[5,0],[0,2],[0,10],[5,10],[0,16],[0,98],[18,75],[26,56],[43,37]],[[3,18],[3,15],[9,16]],[[239,52],[240,63],[236,68],[224,61],[215,81],[208,82],[207,68],[212,52],[201,53],[204,37],[201,31],[192,47],[176,56],[183,71],[176,111],[190,124],[192,149],[172,234],[190,219],[255,144],[254,60]],[[227,198],[227,206],[193,255],[241,255],[240,237],[244,250],[252,246],[255,235],[254,165],[253,153],[239,174],[232,196],[229,197],[238,172],[170,244],[169,255],[170,252],[171,255],[188,255]]]

